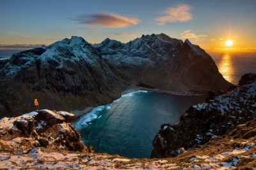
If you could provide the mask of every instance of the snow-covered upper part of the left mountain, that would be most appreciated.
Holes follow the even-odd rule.
[[[26,53],[27,52],[27,53]],[[33,66],[34,60],[40,60],[42,67],[49,65],[49,61],[54,59],[54,62],[58,62],[58,67],[65,67],[67,65],[65,62],[79,62],[79,60],[86,60],[88,64],[95,64],[97,67],[97,57],[92,53],[92,45],[85,41],[81,37],[72,36],[70,39],[63,39],[61,41],[56,41],[48,46],[40,46],[34,48],[33,50],[26,50],[21,52],[19,56],[20,63],[15,62],[17,60],[17,55],[20,53],[14,53],[10,58],[9,62],[3,67],[6,78],[13,78],[16,76],[17,72],[24,67]]]

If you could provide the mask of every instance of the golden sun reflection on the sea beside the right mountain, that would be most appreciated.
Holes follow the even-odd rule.
[[[232,66],[232,60],[230,53],[225,53],[220,60],[219,64],[219,71],[223,75],[223,77],[231,82],[234,83],[234,77],[232,76],[234,73],[233,66]]]

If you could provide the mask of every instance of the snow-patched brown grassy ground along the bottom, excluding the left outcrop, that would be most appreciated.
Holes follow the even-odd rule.
[[[106,153],[72,152],[35,146],[24,152],[0,143],[0,167],[6,169],[253,169],[256,167],[256,119],[174,158],[127,159]],[[15,144],[17,139],[13,139]],[[16,145],[16,144],[15,144]],[[13,145],[14,146],[14,145]],[[8,148],[12,150],[8,150]]]

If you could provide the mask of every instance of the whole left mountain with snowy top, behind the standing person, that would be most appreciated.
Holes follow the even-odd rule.
[[[49,109],[84,109],[111,102],[125,83],[83,38],[14,53],[0,70],[1,114],[33,108],[37,98]]]

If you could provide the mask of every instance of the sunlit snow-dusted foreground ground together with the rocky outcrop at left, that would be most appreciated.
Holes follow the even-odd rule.
[[[42,115],[44,117],[42,117]],[[49,110],[0,120],[0,167],[6,169],[253,169],[256,118],[204,145],[164,159],[93,153],[81,143],[72,113]],[[33,130],[34,129],[34,130]]]

